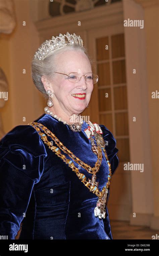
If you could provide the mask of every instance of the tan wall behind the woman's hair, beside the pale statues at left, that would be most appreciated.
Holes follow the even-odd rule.
[[[31,59],[39,45],[38,32],[30,17],[29,1],[16,0],[14,5],[16,27],[11,35],[0,36],[3,49],[0,66],[9,83],[8,101],[0,109],[5,133],[16,125],[28,124],[44,112],[43,98],[32,82],[30,71]],[[26,26],[22,25],[23,21]]]

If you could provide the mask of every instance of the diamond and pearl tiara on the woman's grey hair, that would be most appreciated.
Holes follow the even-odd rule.
[[[73,33],[73,35],[69,34],[68,32],[66,33],[66,35],[62,35],[60,33],[59,36],[53,36],[52,39],[50,39],[49,41],[46,40],[35,53],[34,59],[44,60],[51,53],[57,51],[58,49],[62,49],[64,46],[72,44],[80,44],[81,46],[83,46],[83,40],[75,33]]]

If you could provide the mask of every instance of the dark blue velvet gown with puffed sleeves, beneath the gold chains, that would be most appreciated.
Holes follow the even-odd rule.
[[[84,130],[73,132],[68,125],[43,114],[40,122],[76,157],[91,167],[97,156]],[[118,167],[118,149],[113,134],[100,125],[112,167]],[[52,139],[48,137],[50,141]],[[53,146],[57,146],[53,141]],[[68,159],[69,156],[61,151]],[[108,181],[109,167],[102,150],[102,163],[96,173],[99,190]],[[76,162],[74,165],[79,169]],[[92,174],[79,169],[89,179]],[[111,190],[111,186],[110,186]],[[109,198],[109,193],[108,193]],[[19,125],[0,141],[0,235],[15,239],[20,223],[19,239],[113,239],[106,205],[106,218],[94,215],[98,197],[92,193],[72,169],[43,142],[31,125]]]

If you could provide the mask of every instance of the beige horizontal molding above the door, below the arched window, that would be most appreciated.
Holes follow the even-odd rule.
[[[44,34],[49,30],[60,27],[72,27],[76,30],[85,30],[90,28],[98,28],[99,26],[113,25],[123,20],[122,2],[117,2],[108,6],[96,7],[92,10],[66,14],[63,16],[53,17],[42,21],[35,22],[35,26],[40,34]],[[78,26],[78,22],[81,26]],[[67,31],[66,31],[67,32]]]

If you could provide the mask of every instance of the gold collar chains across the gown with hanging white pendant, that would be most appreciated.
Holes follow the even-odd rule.
[[[63,146],[62,142],[60,142],[60,140],[44,125],[42,125],[41,123],[36,123],[36,122],[31,122],[28,125],[33,126],[37,132],[40,134],[41,139],[44,141],[44,143],[47,144],[47,146],[53,151],[55,152],[55,154],[60,157],[66,164],[68,164],[68,166],[72,169],[72,171],[74,171],[77,175],[77,177],[83,182],[83,184],[94,194],[96,194],[98,196],[98,201],[97,201],[97,206],[95,207],[94,213],[95,213],[95,217],[99,217],[104,218],[106,217],[106,212],[105,212],[105,205],[107,202],[107,194],[108,194],[108,189],[110,187],[110,180],[111,180],[111,165],[110,162],[108,160],[108,156],[106,153],[105,148],[103,148],[108,166],[109,166],[109,174],[108,174],[108,182],[106,183],[106,186],[103,187],[102,191],[99,191],[98,189],[98,185],[96,185],[97,182],[94,182],[93,180],[93,176],[94,178],[96,177],[95,173],[99,170],[100,165],[101,165],[101,161],[102,161],[102,149],[100,146],[98,146],[98,159],[97,162],[95,164],[95,166],[92,168],[90,165],[84,163],[83,161],[81,161],[79,158],[77,158],[71,151],[69,151],[65,146]],[[72,160],[68,159],[65,155],[61,154],[61,151],[58,147],[52,146],[52,142],[49,141],[47,139],[47,136],[45,133],[41,132],[41,130],[43,130],[48,136],[50,136],[55,143],[57,144],[57,146],[66,154],[68,154],[68,156],[74,160],[76,163],[80,164],[84,169],[86,169],[89,173],[92,173],[92,180],[88,179],[87,181],[87,177],[85,176],[84,173],[79,172],[79,169],[74,165],[74,163],[72,162]]]

